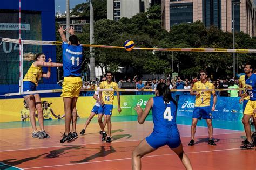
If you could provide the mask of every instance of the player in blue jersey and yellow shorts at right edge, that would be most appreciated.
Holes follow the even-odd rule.
[[[244,116],[242,117],[242,123],[244,124],[247,141],[244,143],[244,146],[240,147],[241,149],[250,149],[254,147],[253,140],[251,137],[251,127],[249,122],[252,115],[255,117],[254,109],[256,108],[256,74],[253,74],[253,70],[254,70],[253,62],[247,63],[245,65],[244,71],[246,76],[248,77],[245,81],[245,89],[247,90],[247,93],[245,93],[240,98],[239,102],[244,100],[244,97],[246,96],[249,96],[250,100],[246,104],[246,107],[244,110]]]

